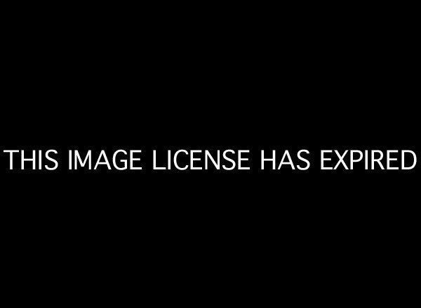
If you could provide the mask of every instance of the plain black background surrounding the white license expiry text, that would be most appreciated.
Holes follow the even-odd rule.
[[[8,289],[118,302],[410,293],[419,167],[321,172],[318,153],[419,155],[415,20],[177,9],[20,8],[2,39],[1,149],[250,148],[253,171],[3,169]],[[309,172],[258,171],[260,149],[300,148]]]

